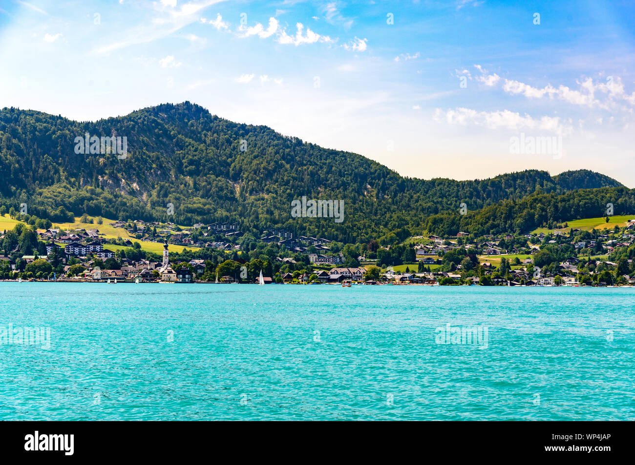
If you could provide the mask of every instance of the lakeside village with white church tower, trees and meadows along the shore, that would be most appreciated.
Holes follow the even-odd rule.
[[[57,282],[163,282],[370,285],[635,285],[635,219],[610,230],[555,225],[551,233],[411,236],[405,228],[366,244],[341,244],[288,230],[260,235],[238,223],[117,221],[132,239],[91,229],[60,230],[13,216],[0,235],[0,279]],[[1,218],[0,218],[1,219]],[[83,216],[81,223],[93,222]],[[47,224],[48,223],[48,224]],[[45,226],[46,228],[40,228]],[[149,242],[157,251],[148,250]],[[168,252],[169,245],[191,247]],[[262,272],[262,280],[260,273]]]

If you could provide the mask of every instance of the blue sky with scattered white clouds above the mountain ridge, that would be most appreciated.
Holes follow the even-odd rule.
[[[586,168],[635,187],[630,1],[2,0],[0,44],[0,107],[189,100],[405,176]],[[511,153],[521,134],[562,150]]]

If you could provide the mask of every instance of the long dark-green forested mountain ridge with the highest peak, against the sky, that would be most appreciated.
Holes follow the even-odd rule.
[[[126,136],[126,157],[76,154],[75,138],[85,133]],[[462,202],[473,212],[534,193],[623,188],[585,170],[553,177],[529,170],[474,181],[407,178],[361,155],[227,121],[189,102],[97,122],[4,108],[0,179],[0,202],[16,209],[24,202],[41,218],[55,220],[66,210],[184,225],[237,221],[244,230],[283,227],[342,242],[404,227],[420,233],[432,225],[431,215],[457,213]],[[291,200],[303,195],[344,200],[344,221],[292,218]],[[168,203],[174,216],[166,214]]]

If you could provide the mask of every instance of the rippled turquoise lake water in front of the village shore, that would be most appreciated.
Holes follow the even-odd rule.
[[[48,349],[0,345],[3,420],[635,419],[635,288],[1,282],[0,296],[0,331],[50,328]],[[447,324],[486,344],[439,343]]]

